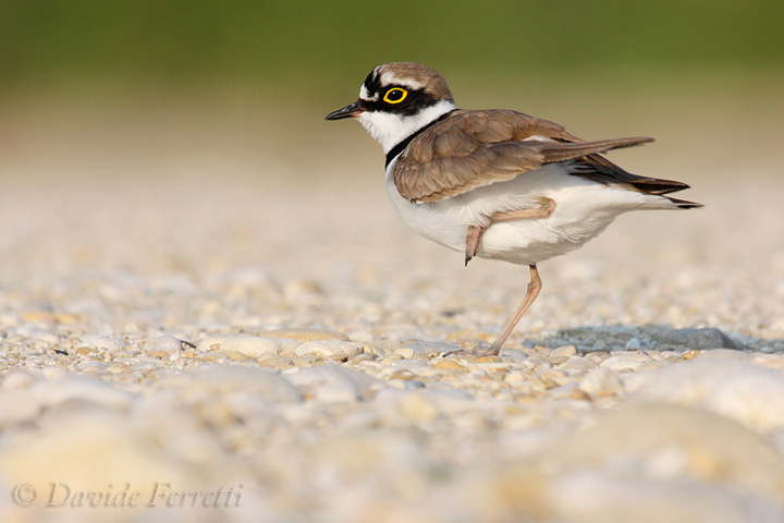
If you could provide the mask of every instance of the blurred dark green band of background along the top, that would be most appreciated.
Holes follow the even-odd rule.
[[[482,83],[579,73],[781,69],[781,0],[450,2],[2,0],[0,88],[189,90],[262,85],[323,96],[378,63],[424,61]],[[352,95],[354,93],[352,88]]]

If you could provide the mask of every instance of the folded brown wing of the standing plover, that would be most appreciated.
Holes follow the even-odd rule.
[[[531,136],[556,142],[525,141]],[[651,141],[584,142],[556,123],[519,112],[458,110],[412,141],[395,167],[393,180],[404,198],[438,202],[511,180],[546,163]]]

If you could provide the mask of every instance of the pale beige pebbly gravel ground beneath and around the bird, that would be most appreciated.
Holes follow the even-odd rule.
[[[471,358],[527,269],[407,230],[370,144],[89,136],[0,162],[3,522],[784,521],[781,154],[635,150],[707,207],[541,264]]]

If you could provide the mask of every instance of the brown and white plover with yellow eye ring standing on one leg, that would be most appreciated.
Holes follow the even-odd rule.
[[[514,110],[457,109],[443,76],[422,63],[375,68],[359,98],[326,120],[347,118],[381,144],[389,200],[411,228],[464,253],[465,265],[528,266],[523,302],[475,356],[500,353],[539,295],[539,263],[580,247],[623,212],[702,206],[669,196],[689,188],[683,182],[632,174],[601,156],[653,138],[584,141]]]

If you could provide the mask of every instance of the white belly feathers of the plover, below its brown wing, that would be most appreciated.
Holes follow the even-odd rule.
[[[538,264],[568,253],[627,210],[675,208],[662,196],[566,174],[558,163],[441,202],[415,204],[400,195],[389,175],[394,163],[388,170],[387,193],[397,214],[422,236],[460,252],[465,251],[468,227],[487,224],[493,212],[534,209],[542,196],[554,200],[555,210],[547,218],[501,221],[485,231],[477,256],[513,264]]]

